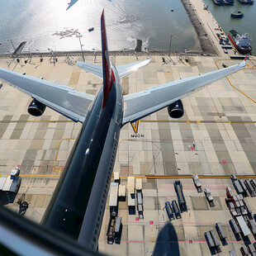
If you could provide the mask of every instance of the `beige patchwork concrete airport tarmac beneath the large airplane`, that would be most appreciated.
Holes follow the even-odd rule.
[[[146,57],[139,56],[138,60]],[[85,56],[89,63],[94,63],[93,58],[93,55]],[[162,55],[150,58],[152,61],[148,66],[122,79],[124,92],[139,92],[161,83],[222,69],[222,64],[230,66],[240,62],[221,57],[187,56],[187,63],[184,59],[179,61],[179,56],[172,56],[175,64],[163,64]],[[54,65],[46,57],[42,63],[39,58],[31,59],[31,64],[20,59],[19,63],[12,62],[8,67],[10,59],[0,59],[0,67],[95,94],[102,81],[79,69],[74,64],[78,57],[71,59],[74,65],[66,60],[66,57],[58,57]],[[115,65],[135,61],[134,55],[111,55]],[[100,56],[97,56],[96,64],[101,64]],[[121,184],[127,184],[130,176],[142,178],[144,219],[138,220],[137,211],[135,215],[129,214],[127,199],[120,201],[121,242],[107,244],[110,211],[107,201],[99,240],[101,252],[152,255],[156,246],[159,255],[164,252],[211,255],[204,232],[213,229],[220,221],[228,243],[220,246],[223,252],[220,255],[229,255],[230,249],[235,249],[239,255],[244,240],[235,239],[228,225],[231,215],[225,205],[225,187],[231,186],[235,192],[228,178],[231,173],[256,174],[255,57],[250,57],[247,64],[238,73],[184,97],[185,113],[181,119],[171,119],[167,109],[163,109],[141,120],[137,135],[130,125],[122,128],[114,171],[120,173]],[[5,83],[0,89],[0,97],[0,174],[10,173],[12,168],[21,165],[22,182],[17,198],[26,192],[26,201],[30,205],[20,214],[39,223],[81,124],[73,123],[49,108],[41,117],[29,116],[26,109],[31,98]],[[192,149],[193,143],[195,149]],[[204,194],[197,192],[192,178],[184,178],[184,175],[195,173],[202,177],[213,176],[201,178],[201,184],[203,188],[211,189],[215,207],[210,207]],[[183,183],[187,212],[181,219],[169,223],[163,210],[164,202],[177,199],[173,182],[178,179]],[[19,212],[17,198],[1,195],[1,202]],[[248,197],[248,201],[256,213],[256,199]],[[249,235],[249,240],[253,242],[255,238]]]

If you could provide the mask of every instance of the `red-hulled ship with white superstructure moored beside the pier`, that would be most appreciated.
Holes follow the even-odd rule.
[[[247,55],[251,52],[252,47],[249,43],[251,39],[249,38],[248,33],[240,35],[237,31],[231,30],[228,36],[240,54]]]

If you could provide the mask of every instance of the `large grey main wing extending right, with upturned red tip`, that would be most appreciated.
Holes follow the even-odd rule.
[[[123,125],[127,122],[134,122],[142,117],[149,116],[155,111],[168,107],[188,92],[192,92],[212,83],[220,78],[244,69],[245,59],[242,63],[230,66],[229,68],[212,71],[192,78],[180,79],[171,83],[164,83],[144,92],[135,92],[124,96]]]

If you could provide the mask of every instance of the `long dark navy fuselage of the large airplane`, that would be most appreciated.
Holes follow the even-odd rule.
[[[114,66],[112,70],[116,82],[106,105],[102,108],[101,88],[41,221],[91,249],[97,248],[122,126],[121,86]]]

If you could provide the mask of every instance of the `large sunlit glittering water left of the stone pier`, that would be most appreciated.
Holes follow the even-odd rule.
[[[103,8],[110,50],[135,50],[137,39],[143,42],[142,50],[169,50],[170,44],[171,50],[200,50],[180,1],[79,0],[66,11],[68,2],[1,1],[0,54],[13,52],[22,41],[26,41],[22,52],[80,50],[78,36],[83,36],[83,50],[100,50]]]

